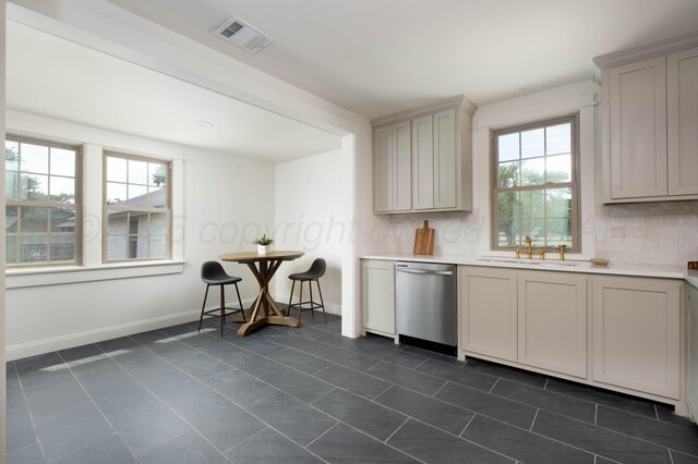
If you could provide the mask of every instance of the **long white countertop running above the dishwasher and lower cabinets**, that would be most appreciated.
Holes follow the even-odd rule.
[[[467,256],[467,255],[412,255],[380,254],[362,256],[362,259],[381,259],[389,261],[440,262],[465,266],[485,266],[514,269],[531,269],[562,272],[585,272],[612,276],[654,277],[663,279],[684,279],[698,289],[698,271],[681,266],[642,265],[611,262],[607,266],[592,266],[589,261],[557,259],[541,260],[538,258],[507,258],[503,256]]]

